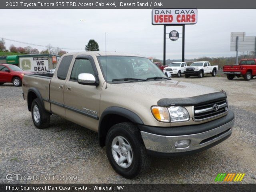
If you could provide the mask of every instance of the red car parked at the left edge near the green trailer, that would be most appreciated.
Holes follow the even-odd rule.
[[[21,86],[24,74],[33,73],[23,71],[16,65],[0,64],[0,85],[12,82],[12,84],[16,87]]]

